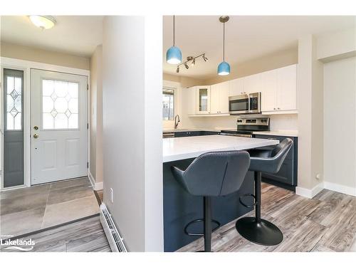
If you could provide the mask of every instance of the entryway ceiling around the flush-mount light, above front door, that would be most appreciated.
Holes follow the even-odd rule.
[[[54,16],[57,23],[41,30],[28,16],[1,16],[1,41],[90,57],[103,39],[104,16]]]

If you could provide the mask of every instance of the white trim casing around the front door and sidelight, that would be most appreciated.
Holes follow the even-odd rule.
[[[90,70],[84,70],[80,68],[70,68],[65,66],[52,65],[47,63],[40,63],[35,61],[24,61],[17,58],[6,58],[0,57],[0,69],[1,69],[1,86],[0,93],[3,93],[3,80],[4,80],[4,68],[11,68],[14,70],[23,70],[23,164],[24,164],[24,184],[16,187],[8,187],[4,189],[4,138],[1,137],[2,142],[1,147],[1,179],[0,179],[0,191],[6,191],[10,189],[18,189],[22,187],[31,187],[31,68],[36,68],[40,70],[56,71],[59,73],[68,73],[75,75],[87,76],[88,90],[87,90],[87,122],[89,123],[90,115]],[[1,106],[3,105],[3,98],[1,97]],[[4,117],[4,110],[1,110],[1,117]],[[1,131],[4,131],[4,122],[1,120]],[[90,169],[90,127],[87,132],[87,141],[88,141],[88,162]]]

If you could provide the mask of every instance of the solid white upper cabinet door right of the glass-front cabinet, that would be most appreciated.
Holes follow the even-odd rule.
[[[229,113],[229,81],[210,87],[210,114]]]

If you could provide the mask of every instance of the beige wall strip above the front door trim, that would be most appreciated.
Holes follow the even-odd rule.
[[[46,51],[39,48],[20,46],[14,43],[1,42],[0,56],[6,58],[18,58],[25,61],[36,61],[41,63],[66,66],[70,68],[90,69],[90,59],[73,56],[66,53]]]

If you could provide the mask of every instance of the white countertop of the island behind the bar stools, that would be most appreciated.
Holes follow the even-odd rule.
[[[226,135],[204,135],[179,138],[164,138],[163,162],[190,159],[211,151],[248,150],[268,145],[278,145],[278,140],[235,137]]]

